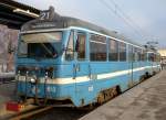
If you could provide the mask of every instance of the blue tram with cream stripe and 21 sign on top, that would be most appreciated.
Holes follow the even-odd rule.
[[[49,13],[20,32],[15,67],[21,98],[82,107],[104,102],[117,89],[125,91],[159,72],[155,51],[94,24]]]

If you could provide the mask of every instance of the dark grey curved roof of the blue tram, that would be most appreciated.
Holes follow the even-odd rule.
[[[41,20],[41,17],[32,20],[28,23],[25,23],[22,29],[21,32],[25,32],[25,31],[32,31],[32,30],[44,30],[44,29],[65,29],[65,28],[70,28],[70,26],[77,26],[77,28],[83,28],[83,29],[87,29],[91,31],[95,31],[118,40],[122,40],[124,42],[127,43],[132,43],[138,46],[143,46],[121,34],[118,34],[115,31],[110,31],[107,29],[104,29],[102,26],[95,25],[93,23],[76,19],[76,18],[71,18],[71,17],[61,17],[58,13],[54,13],[52,17],[50,17],[49,20]]]

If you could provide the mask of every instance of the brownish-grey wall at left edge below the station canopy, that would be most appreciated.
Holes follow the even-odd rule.
[[[14,52],[9,50],[17,48],[18,33],[18,30],[0,24],[0,73],[14,69]]]

